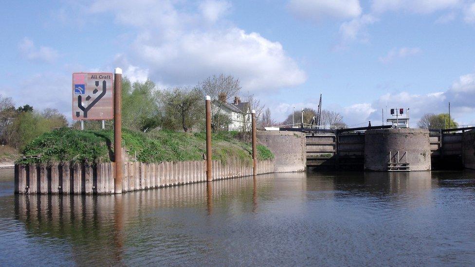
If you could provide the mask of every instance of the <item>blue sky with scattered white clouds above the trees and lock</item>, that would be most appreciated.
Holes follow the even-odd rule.
[[[158,89],[231,74],[276,121],[322,93],[350,126],[449,102],[475,125],[475,0],[3,0],[0,32],[0,94],[70,121],[72,73],[120,67]]]

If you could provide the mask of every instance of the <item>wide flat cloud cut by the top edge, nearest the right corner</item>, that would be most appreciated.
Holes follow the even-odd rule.
[[[457,8],[461,0],[373,0],[371,10],[375,13],[406,11],[428,14],[447,8]]]

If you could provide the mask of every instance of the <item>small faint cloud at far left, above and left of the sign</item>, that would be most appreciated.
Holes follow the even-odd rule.
[[[18,44],[18,51],[21,56],[32,62],[53,63],[59,54],[53,48],[40,46],[37,48],[28,37]]]

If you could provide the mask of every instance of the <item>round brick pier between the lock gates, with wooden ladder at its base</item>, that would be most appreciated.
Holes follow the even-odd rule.
[[[411,171],[431,169],[427,129],[377,129],[365,132],[365,170],[386,171],[391,161],[407,162]]]

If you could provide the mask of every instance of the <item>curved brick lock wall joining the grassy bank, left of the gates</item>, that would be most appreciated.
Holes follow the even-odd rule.
[[[306,137],[290,131],[257,131],[257,140],[274,153],[275,172],[301,172],[307,166]]]

